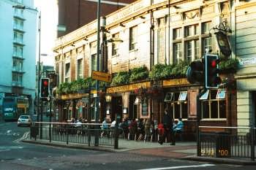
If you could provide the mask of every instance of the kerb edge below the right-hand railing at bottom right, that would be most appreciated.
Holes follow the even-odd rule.
[[[188,161],[203,161],[203,162],[211,162],[211,163],[224,163],[224,164],[235,164],[235,165],[256,165],[256,161],[246,161],[232,158],[206,158],[206,157],[198,157],[198,156],[188,156],[184,158],[179,158],[181,160]]]

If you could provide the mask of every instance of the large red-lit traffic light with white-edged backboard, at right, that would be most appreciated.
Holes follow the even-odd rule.
[[[206,88],[219,88],[222,80],[219,77],[219,56],[206,54]]]

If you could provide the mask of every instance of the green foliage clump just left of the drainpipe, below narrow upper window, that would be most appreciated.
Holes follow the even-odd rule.
[[[146,80],[147,78],[148,78],[148,69],[146,68],[146,66],[140,66],[138,68],[131,69],[129,82]]]

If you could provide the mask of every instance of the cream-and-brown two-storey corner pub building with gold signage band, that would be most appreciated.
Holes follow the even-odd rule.
[[[199,3],[199,4],[198,4]],[[230,26],[229,1],[140,0],[101,18],[100,71],[130,72],[146,66],[190,63],[206,50],[222,55],[215,32],[220,23]],[[227,37],[232,33],[225,32]],[[232,42],[230,42],[232,46]],[[61,36],[53,49],[59,85],[91,77],[97,69],[97,20]],[[232,56],[230,56],[232,58]],[[221,75],[233,80],[233,73]],[[203,86],[190,84],[186,75],[142,79],[122,85],[108,83],[98,92],[99,121],[105,117],[151,118],[162,121],[164,109],[184,121],[184,133],[195,137],[196,97]],[[95,121],[95,90],[58,93],[59,122],[72,117]],[[200,98],[200,125],[236,126],[236,87],[222,83]]]

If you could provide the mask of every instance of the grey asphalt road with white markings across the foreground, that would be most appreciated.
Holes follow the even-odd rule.
[[[14,122],[0,122],[1,170],[245,169],[244,166],[167,159],[134,152],[76,150],[20,142],[28,131],[29,128],[17,127]],[[250,169],[255,169],[255,166],[246,166],[246,170]]]

